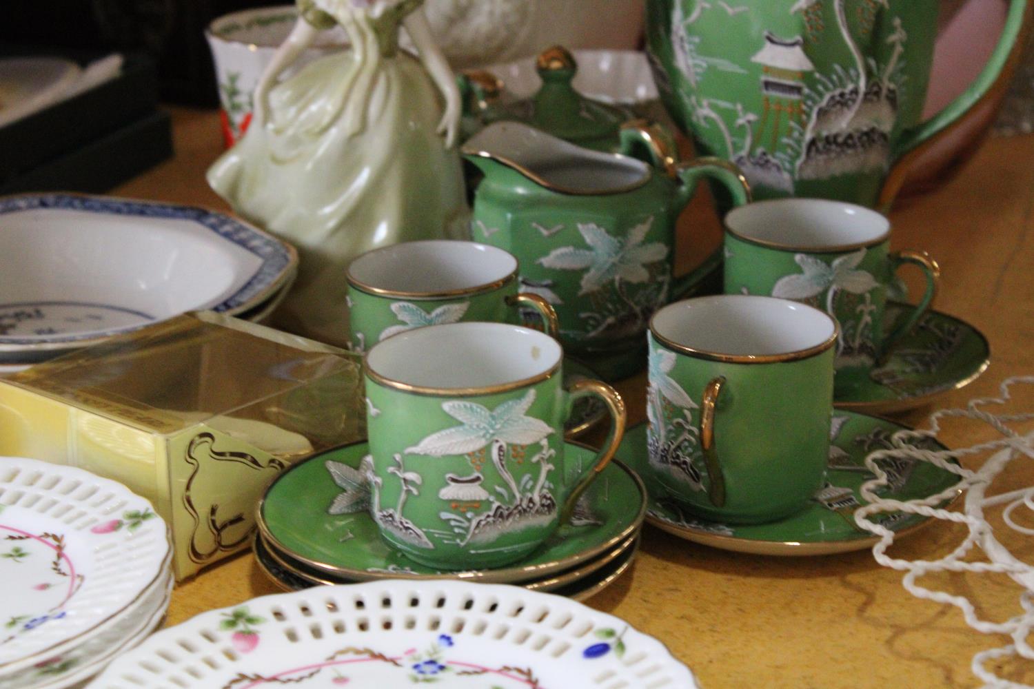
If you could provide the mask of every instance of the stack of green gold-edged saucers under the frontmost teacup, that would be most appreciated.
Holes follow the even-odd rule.
[[[281,474],[258,507],[258,565],[285,590],[385,578],[456,578],[513,584],[582,600],[613,584],[632,565],[646,508],[639,477],[611,462],[585,492],[570,523],[530,556],[497,569],[439,571],[389,546],[369,512],[343,513],[336,500],[348,488],[366,443],[312,457]],[[584,445],[566,457],[590,462]],[[349,470],[351,469],[351,470]]]

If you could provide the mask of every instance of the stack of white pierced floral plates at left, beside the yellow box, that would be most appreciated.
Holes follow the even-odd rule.
[[[144,640],[171,558],[164,522],[125,487],[0,458],[0,689],[78,684]]]

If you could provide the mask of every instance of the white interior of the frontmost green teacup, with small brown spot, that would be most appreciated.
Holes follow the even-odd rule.
[[[533,378],[564,351],[548,335],[506,323],[449,323],[400,333],[366,354],[370,371],[406,385],[482,388]]]

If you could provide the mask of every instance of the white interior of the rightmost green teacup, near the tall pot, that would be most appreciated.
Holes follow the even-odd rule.
[[[882,241],[890,221],[876,211],[821,198],[748,203],[725,216],[734,234],[788,249],[828,249]]]

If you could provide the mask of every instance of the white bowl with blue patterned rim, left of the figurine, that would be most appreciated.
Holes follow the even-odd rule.
[[[290,245],[205,209],[0,198],[0,362],[42,361],[187,311],[245,313],[297,265]]]

